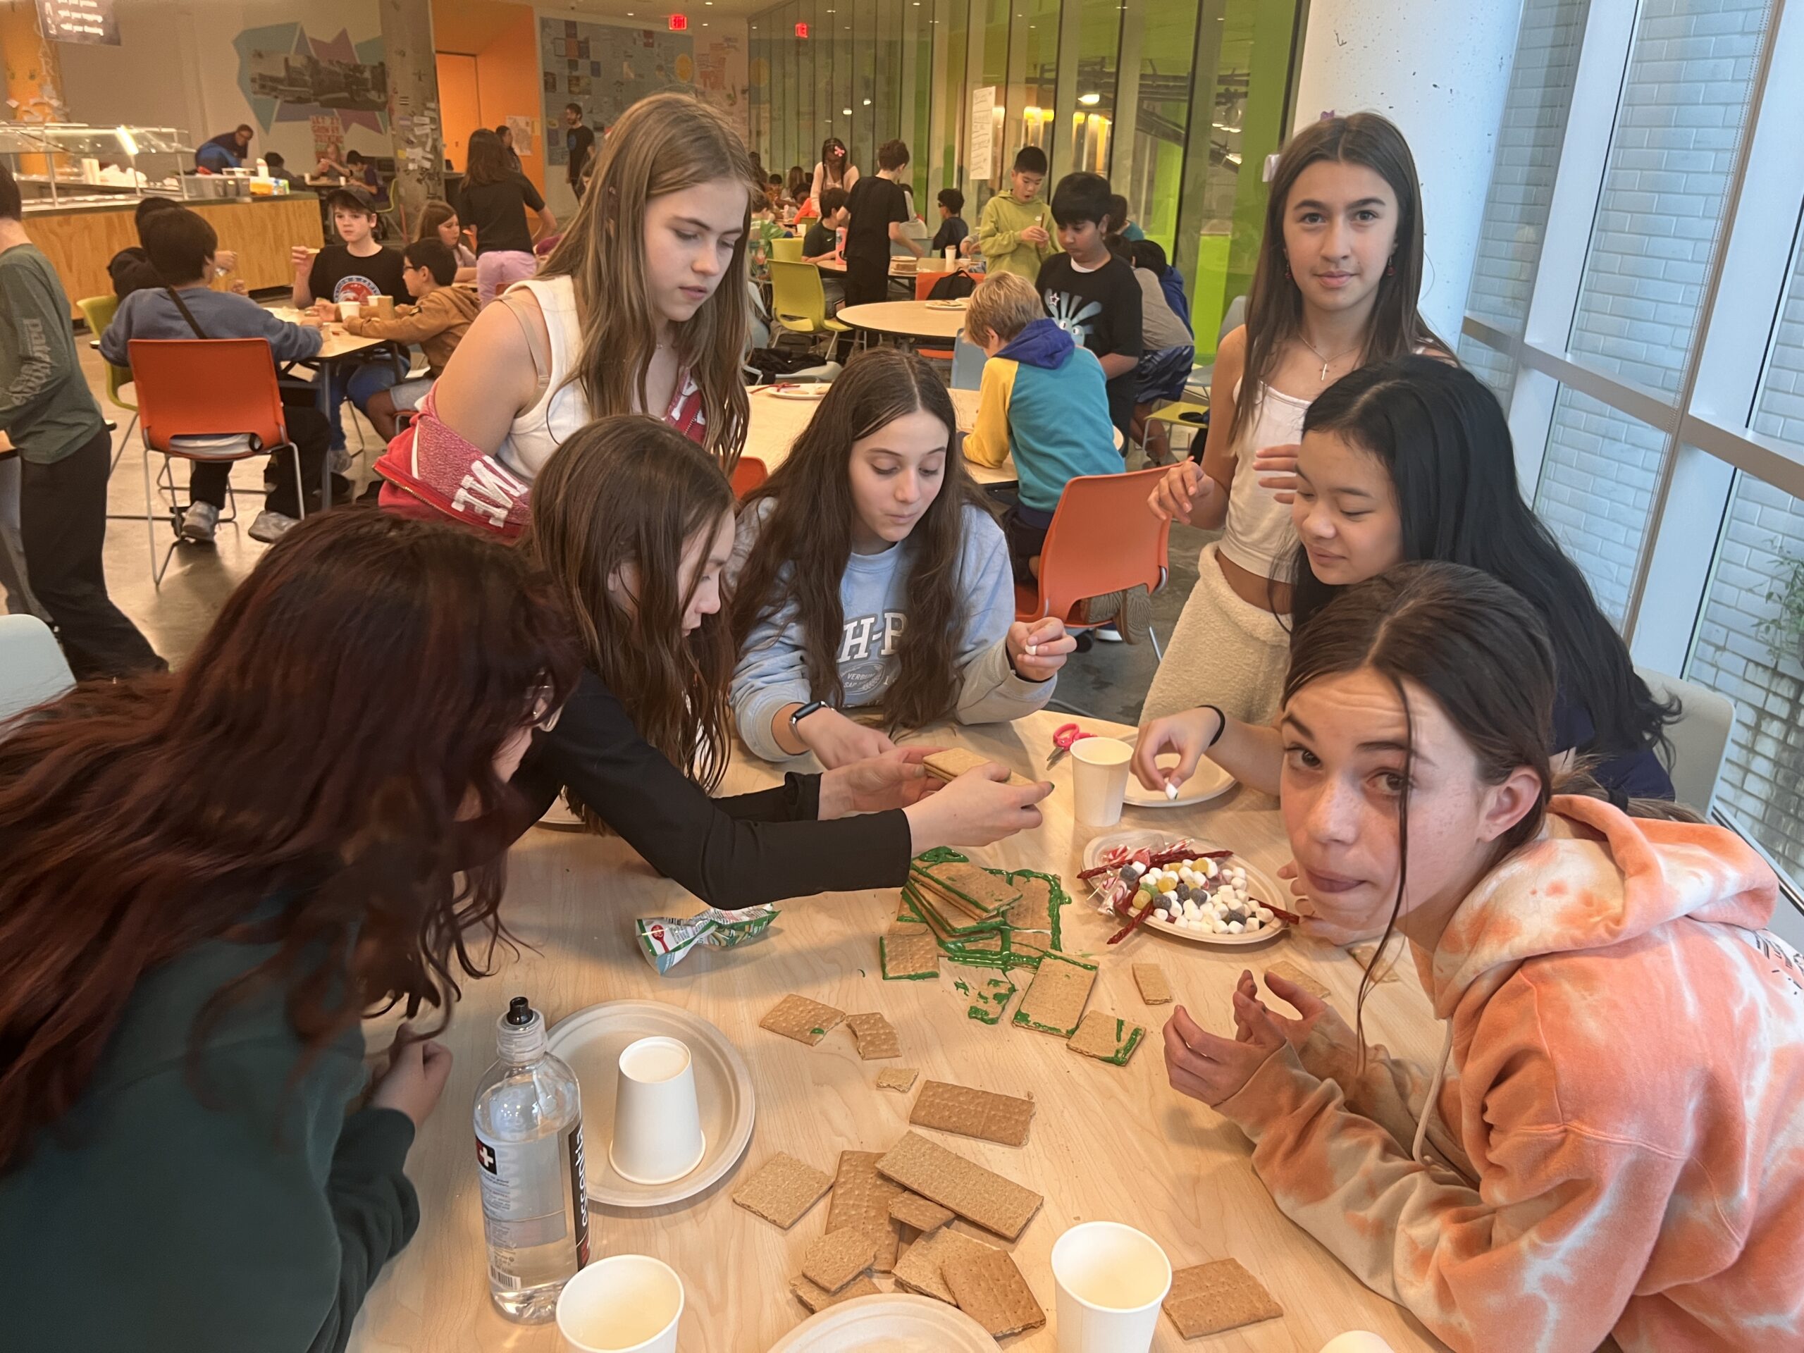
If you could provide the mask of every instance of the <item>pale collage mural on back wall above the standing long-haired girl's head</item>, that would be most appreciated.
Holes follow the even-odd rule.
[[[666,88],[678,88],[743,121],[741,90],[729,69],[740,38],[696,32],[624,29],[574,18],[539,18],[539,70],[545,92],[547,161],[565,164],[566,103],[583,106],[583,119],[601,130],[628,106]]]

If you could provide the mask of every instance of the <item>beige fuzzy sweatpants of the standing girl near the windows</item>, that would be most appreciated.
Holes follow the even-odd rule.
[[[1234,595],[1205,545],[1178,626],[1140,707],[1140,723],[1218,705],[1229,718],[1272,723],[1290,667],[1286,621]]]

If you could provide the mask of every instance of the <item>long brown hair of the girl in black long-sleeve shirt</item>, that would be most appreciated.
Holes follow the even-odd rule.
[[[682,554],[731,512],[732,485],[702,447],[657,419],[617,413],[577,429],[545,464],[521,539],[639,734],[711,792],[727,770],[732,637],[723,613],[682,631],[696,588]],[[608,590],[626,566],[639,581],[633,606]],[[584,821],[599,824],[588,812]]]

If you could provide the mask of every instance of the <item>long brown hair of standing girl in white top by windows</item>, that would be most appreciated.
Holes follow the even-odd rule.
[[[1290,139],[1277,157],[1277,173],[1272,175],[1259,263],[1247,294],[1247,366],[1229,437],[1252,428],[1265,382],[1284,348],[1302,332],[1302,292],[1292,281],[1284,256],[1284,213],[1297,179],[1322,161],[1360,164],[1396,193],[1396,253],[1391,256],[1394,272],[1378,278],[1378,301],[1366,323],[1360,364],[1404,357],[1425,346],[1452,352],[1416,308],[1422,296],[1422,184],[1416,180],[1416,159],[1409,153],[1409,143],[1380,114],[1324,117]]]

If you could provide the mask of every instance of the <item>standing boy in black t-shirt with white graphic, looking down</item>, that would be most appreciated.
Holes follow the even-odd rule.
[[[1109,422],[1129,435],[1135,368],[1140,364],[1140,283],[1133,267],[1109,253],[1109,180],[1100,173],[1068,173],[1052,193],[1059,247],[1039,267],[1035,290],[1059,328],[1102,363],[1109,390]]]

